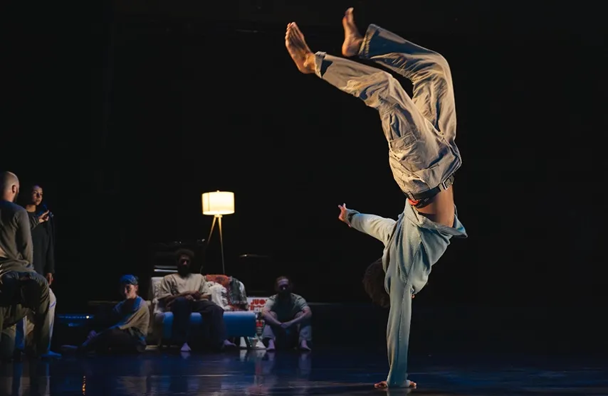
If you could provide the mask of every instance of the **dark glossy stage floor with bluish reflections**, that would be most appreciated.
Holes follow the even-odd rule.
[[[421,395],[608,395],[608,359],[581,356],[425,355],[410,358]],[[234,350],[181,355],[24,360],[0,368],[0,395],[382,395],[382,351]],[[405,395],[392,390],[389,395]]]

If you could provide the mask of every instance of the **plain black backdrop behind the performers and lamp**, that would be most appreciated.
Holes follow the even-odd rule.
[[[116,299],[122,273],[150,275],[155,242],[206,238],[201,193],[215,190],[236,196],[224,217],[228,274],[246,285],[288,274],[310,301],[368,301],[360,281],[382,245],[340,223],[337,204],[402,211],[379,117],[300,75],[283,43],[298,21],[313,50],[339,53],[347,6],[361,28],[442,53],[454,77],[454,188],[469,238],[453,241],[416,301],[605,307],[601,12],[580,2],[209,3],[4,13],[0,168],[40,183],[56,215],[59,311]],[[252,279],[243,254],[271,260]],[[204,261],[221,272],[218,234]]]

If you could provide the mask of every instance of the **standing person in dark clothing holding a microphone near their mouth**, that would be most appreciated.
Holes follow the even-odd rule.
[[[33,269],[46,278],[48,285],[53,283],[53,274],[55,273],[55,232],[54,220],[50,216],[50,212],[43,208],[39,210],[42,204],[43,190],[41,186],[33,185],[27,190],[26,196],[23,199],[23,207],[26,208],[31,225],[31,239],[33,247]],[[42,213],[42,214],[41,214]],[[40,221],[41,218],[46,221]],[[51,299],[51,305],[48,312],[48,323],[51,329],[51,338],[53,337],[53,327],[55,324],[55,309],[57,299],[52,289],[48,289],[48,294]],[[17,351],[25,350],[26,346],[30,345],[28,338],[31,338],[33,331],[33,323],[31,315],[23,318],[17,323],[15,349]],[[49,352],[54,354],[54,352]]]

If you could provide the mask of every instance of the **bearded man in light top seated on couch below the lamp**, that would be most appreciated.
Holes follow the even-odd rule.
[[[173,313],[172,343],[182,346],[182,352],[191,350],[188,345],[190,314],[198,312],[203,317],[200,340],[209,348],[223,350],[235,346],[226,339],[224,309],[210,301],[206,279],[201,274],[190,271],[194,261],[191,250],[177,251],[177,274],[162,278],[159,291],[159,304]]]

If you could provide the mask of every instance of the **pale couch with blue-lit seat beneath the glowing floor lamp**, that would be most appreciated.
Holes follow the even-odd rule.
[[[150,341],[156,343],[158,346],[167,345],[171,339],[172,326],[173,326],[173,314],[169,311],[164,311],[158,304],[158,295],[160,282],[162,277],[152,277],[150,284],[151,289],[151,315],[152,321],[150,326]],[[241,282],[241,290],[244,291],[244,286]],[[211,286],[211,301],[222,306],[224,309],[228,309],[224,304],[225,289],[219,284],[213,284]],[[224,311],[224,322],[226,323],[226,332],[229,337],[243,337],[246,346],[249,348],[249,337],[256,336],[256,319],[257,315],[253,311]],[[201,314],[194,312],[190,316],[190,326],[193,327],[192,332],[196,333],[196,327],[201,326],[203,318]]]

